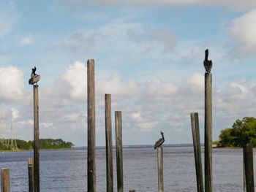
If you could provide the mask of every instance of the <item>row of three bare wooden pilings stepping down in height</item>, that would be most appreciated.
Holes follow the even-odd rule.
[[[87,191],[96,192],[95,166],[95,72],[94,60],[87,61],[87,99],[88,99],[88,155],[87,155]],[[121,111],[115,112],[116,128],[116,172],[118,192],[124,191],[123,178],[123,149],[122,149],[122,120]],[[105,94],[105,140],[106,140],[106,176],[107,192],[113,192],[113,146],[111,94]]]

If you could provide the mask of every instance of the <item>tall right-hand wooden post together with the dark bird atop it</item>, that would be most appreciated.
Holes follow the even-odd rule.
[[[208,50],[205,53],[203,65],[205,74],[205,191],[212,192],[212,94],[211,94],[211,67],[208,61]]]

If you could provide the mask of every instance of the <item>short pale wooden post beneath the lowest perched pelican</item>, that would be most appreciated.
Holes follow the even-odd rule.
[[[158,192],[164,192],[162,147],[157,147]]]

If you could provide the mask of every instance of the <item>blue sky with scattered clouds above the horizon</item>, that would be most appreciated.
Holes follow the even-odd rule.
[[[204,139],[204,51],[213,62],[213,139],[256,116],[255,0],[0,1],[0,137],[87,145],[87,60],[96,75],[96,145],[105,145],[105,93],[122,112],[123,145]]]

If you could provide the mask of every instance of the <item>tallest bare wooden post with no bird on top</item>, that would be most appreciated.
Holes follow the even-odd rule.
[[[87,191],[96,192],[94,60],[87,61]]]

